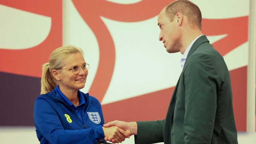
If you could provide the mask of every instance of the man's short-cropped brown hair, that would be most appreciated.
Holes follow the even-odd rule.
[[[202,14],[197,5],[188,0],[178,0],[170,3],[165,8],[166,15],[173,21],[175,14],[182,13],[188,17],[191,27],[202,29]]]

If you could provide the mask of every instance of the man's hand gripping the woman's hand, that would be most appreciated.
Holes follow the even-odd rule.
[[[137,123],[136,122],[127,123],[127,122],[123,122],[123,121],[112,121],[103,126],[106,128],[110,127],[110,126],[117,126],[119,128],[122,128],[123,130],[125,130],[124,133],[121,132],[123,134],[124,138],[129,138],[133,134],[137,135]],[[114,143],[113,139],[106,137],[106,136],[105,136],[105,140]]]

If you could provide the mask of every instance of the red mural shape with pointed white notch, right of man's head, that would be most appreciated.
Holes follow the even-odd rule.
[[[202,31],[205,35],[226,37],[214,42],[213,47],[222,56],[248,41],[248,16],[227,19],[203,19]]]

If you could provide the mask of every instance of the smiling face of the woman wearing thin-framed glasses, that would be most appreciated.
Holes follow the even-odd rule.
[[[88,75],[88,69],[82,69],[82,65],[85,64],[84,58],[80,53],[69,54],[64,59],[64,66],[59,69],[59,86],[67,90],[80,90],[84,87],[86,78]],[[78,66],[80,71],[78,74],[73,74],[71,68]]]

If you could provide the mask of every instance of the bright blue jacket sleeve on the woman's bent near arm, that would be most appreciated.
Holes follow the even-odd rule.
[[[104,138],[101,126],[82,130],[64,130],[55,109],[42,98],[37,98],[35,101],[34,122],[39,132],[51,144],[95,144]]]

